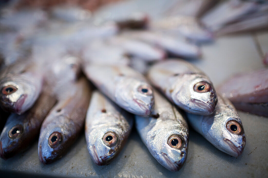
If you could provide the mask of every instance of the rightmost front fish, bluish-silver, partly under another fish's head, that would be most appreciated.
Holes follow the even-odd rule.
[[[218,104],[213,114],[186,115],[193,129],[217,149],[235,157],[243,153],[245,132],[239,114],[230,100],[218,95]]]

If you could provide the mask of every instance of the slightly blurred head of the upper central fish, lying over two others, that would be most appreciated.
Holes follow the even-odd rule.
[[[116,85],[115,96],[121,107],[136,115],[148,116],[154,108],[152,87],[135,78],[122,78]]]

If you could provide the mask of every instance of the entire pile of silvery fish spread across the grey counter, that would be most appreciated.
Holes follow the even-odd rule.
[[[188,152],[186,116],[193,129],[216,148],[239,156],[245,147],[245,133],[228,98],[238,108],[267,116],[268,70],[236,76],[219,88],[222,97],[203,71],[182,59],[167,58],[199,58],[198,45],[212,40],[211,31],[200,27],[196,17],[215,2],[199,2],[194,17],[173,14],[170,21],[149,23],[148,15],[140,13],[105,19],[98,25],[101,11],[81,19],[74,11],[66,13],[61,8],[49,12],[4,9],[7,13],[0,19],[4,59],[0,105],[11,114],[0,136],[1,158],[27,149],[39,136],[39,159],[49,164],[64,156],[85,128],[92,160],[105,165],[124,146],[135,118],[136,129],[152,156],[170,171],[178,171]],[[228,5],[223,3],[218,9]],[[158,15],[162,13],[158,11]],[[202,17],[205,23],[208,17]],[[237,20],[232,17],[221,23]],[[262,83],[255,80],[260,75]],[[241,90],[245,83],[237,81],[248,77],[255,81],[254,87]],[[233,83],[237,88],[228,87]],[[97,90],[93,91],[92,84]]]

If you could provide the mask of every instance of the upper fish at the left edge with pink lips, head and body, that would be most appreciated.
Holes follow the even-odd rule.
[[[20,60],[0,74],[0,105],[3,110],[23,114],[38,98],[43,86],[43,72],[32,60]]]

